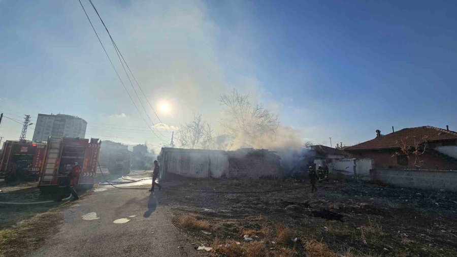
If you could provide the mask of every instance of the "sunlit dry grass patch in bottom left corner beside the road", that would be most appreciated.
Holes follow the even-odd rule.
[[[50,211],[0,230],[0,256],[25,256],[38,249],[44,240],[57,232],[59,220],[58,214]]]

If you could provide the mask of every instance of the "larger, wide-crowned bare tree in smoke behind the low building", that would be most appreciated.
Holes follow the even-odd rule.
[[[265,134],[274,134],[279,127],[278,116],[262,105],[251,103],[249,94],[233,89],[230,94],[222,94],[219,102],[225,107],[221,125],[234,137],[243,137],[249,142]]]

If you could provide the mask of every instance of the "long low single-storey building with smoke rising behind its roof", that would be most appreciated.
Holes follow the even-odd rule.
[[[236,151],[162,147],[161,178],[170,173],[195,178],[281,177],[280,157],[265,149]]]

